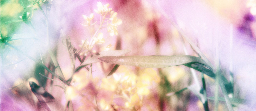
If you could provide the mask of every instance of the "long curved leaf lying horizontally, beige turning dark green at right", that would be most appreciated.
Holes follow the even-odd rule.
[[[106,56],[99,60],[111,64],[129,65],[137,67],[163,68],[170,66],[185,65],[194,68],[208,76],[215,78],[211,67],[201,58],[190,55],[155,55],[155,56]]]

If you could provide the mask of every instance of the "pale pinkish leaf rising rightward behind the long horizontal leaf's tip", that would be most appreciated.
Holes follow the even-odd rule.
[[[93,54],[92,56],[88,57],[80,66],[78,66],[74,72],[80,70],[81,68],[89,65],[89,64],[93,64],[96,62],[101,62],[101,60],[99,60],[99,58],[103,57],[103,56],[122,56],[125,55],[126,53],[128,53],[129,50],[125,49],[125,50],[108,50],[108,51],[101,51],[99,53]]]

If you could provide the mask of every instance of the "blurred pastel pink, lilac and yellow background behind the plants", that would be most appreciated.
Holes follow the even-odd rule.
[[[25,7],[31,5],[22,0]],[[72,45],[79,49],[82,40],[91,37],[100,23],[100,15],[95,13],[97,2],[94,0],[53,0],[48,17],[50,46],[54,50],[60,68],[65,76],[72,76],[71,60],[68,51],[61,43],[60,30],[68,35]],[[197,56],[173,26],[176,24],[184,31],[213,65],[221,65],[223,72],[231,71],[234,79],[234,97],[248,99],[250,103],[237,105],[235,110],[255,110],[256,98],[256,1],[255,0],[101,0],[109,3],[117,17],[122,20],[118,25],[118,35],[110,36],[106,29],[101,29],[105,43],[95,45],[97,52],[103,51],[111,44],[109,50],[128,49],[126,55],[176,55]],[[42,5],[43,8],[44,5]],[[31,12],[31,8],[26,8]],[[35,58],[43,60],[48,67],[54,67],[46,48],[46,23],[40,9],[33,11],[31,22],[33,28],[24,22],[6,23],[21,20],[24,9],[19,0],[1,0],[1,39],[12,36],[10,44]],[[86,20],[82,15],[94,13],[96,22],[91,27],[83,26]],[[170,21],[171,20],[171,21]],[[36,39],[34,39],[36,38]],[[76,60],[76,65],[80,63]],[[120,66],[114,75],[106,78],[114,65],[94,63],[92,76],[85,68],[76,73],[85,74],[85,78],[75,85],[82,85],[79,93],[84,96],[71,97],[74,110],[135,110],[141,111],[175,111],[204,110],[197,96],[189,90],[171,95],[195,84],[189,68],[185,66],[161,69]],[[68,98],[67,92],[54,85],[39,73],[46,74],[42,67],[28,59],[17,50],[1,43],[1,110],[29,111],[42,110],[37,98],[31,92],[28,79],[34,77],[38,84],[55,97],[49,103],[52,110],[63,110]],[[201,79],[200,72],[196,72]],[[79,76],[80,77],[80,76]],[[127,79],[128,77],[128,79]],[[81,77],[80,77],[81,78]],[[133,78],[133,79],[132,79]],[[214,96],[215,81],[205,76],[207,96]],[[144,82],[146,82],[146,86]],[[20,83],[24,83],[21,84]],[[143,84],[142,84],[143,83]],[[202,84],[201,81],[199,81]],[[127,90],[124,84],[131,87],[128,103],[125,97],[116,97],[114,89]],[[17,86],[19,85],[19,86]],[[74,85],[74,86],[75,86]],[[14,87],[17,86],[17,87]],[[77,86],[77,87],[78,87]],[[113,86],[113,90],[111,89]],[[136,89],[133,92],[132,89]],[[220,88],[219,96],[222,96]],[[121,96],[122,93],[120,94]],[[118,95],[118,96],[120,96]],[[97,96],[96,98],[94,98]],[[101,99],[104,98],[104,99]],[[97,103],[95,103],[97,101]],[[112,104],[112,106],[109,106]],[[214,110],[214,100],[209,99],[209,108]],[[118,106],[118,107],[117,107]],[[219,102],[218,110],[227,110],[225,102]]]

